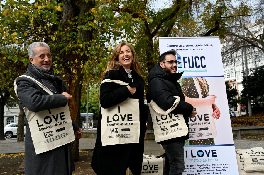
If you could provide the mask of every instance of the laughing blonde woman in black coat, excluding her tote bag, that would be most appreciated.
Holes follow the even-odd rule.
[[[101,109],[99,113],[97,139],[95,143],[91,166],[98,175],[124,175],[129,167],[133,175],[141,173],[144,138],[146,138],[146,118],[143,115],[144,84],[140,73],[140,65],[135,50],[127,42],[119,43],[109,61],[101,79],[120,80],[128,85],[114,82],[102,83],[100,87],[100,105],[110,108],[122,103],[128,98],[138,99],[139,102],[139,143],[115,144],[102,146],[101,141]]]

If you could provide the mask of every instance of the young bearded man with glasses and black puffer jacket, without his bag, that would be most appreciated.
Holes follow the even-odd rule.
[[[180,102],[172,112],[183,114],[185,124],[189,129],[188,117],[194,117],[196,111],[191,104],[185,102],[181,86],[177,82],[183,72],[176,73],[179,63],[176,59],[176,54],[177,52],[174,49],[161,54],[159,63],[148,74],[147,102],[149,103],[153,100],[159,107],[167,111],[167,109],[173,106],[176,100],[174,96],[179,96]],[[185,169],[183,145],[187,139],[189,139],[189,132],[182,137],[158,142],[158,144],[162,145],[166,153],[163,175],[182,174]]]

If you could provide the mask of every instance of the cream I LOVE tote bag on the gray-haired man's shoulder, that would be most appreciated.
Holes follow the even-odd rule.
[[[43,90],[53,95],[47,87],[34,78],[25,75],[19,77],[30,78]],[[14,81],[14,89],[17,96],[16,80],[17,78]],[[29,111],[27,107],[23,109],[28,120],[36,154],[52,150],[75,140],[68,104],[65,107],[40,112]]]

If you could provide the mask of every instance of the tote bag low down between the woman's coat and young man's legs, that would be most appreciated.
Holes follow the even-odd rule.
[[[163,158],[156,158],[155,155],[143,155],[141,174],[163,174]]]

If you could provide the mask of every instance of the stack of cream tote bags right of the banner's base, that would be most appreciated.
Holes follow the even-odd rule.
[[[264,149],[255,147],[248,150],[236,149],[239,175],[264,175]]]

